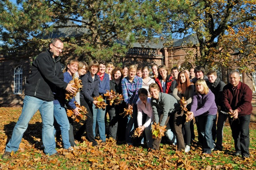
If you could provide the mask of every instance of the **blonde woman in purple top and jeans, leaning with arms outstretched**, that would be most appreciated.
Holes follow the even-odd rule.
[[[203,140],[204,154],[211,154],[214,149],[212,141],[212,125],[217,115],[215,97],[203,79],[196,81],[196,94],[192,98],[192,106],[188,116],[189,119],[198,116],[198,136]]]

